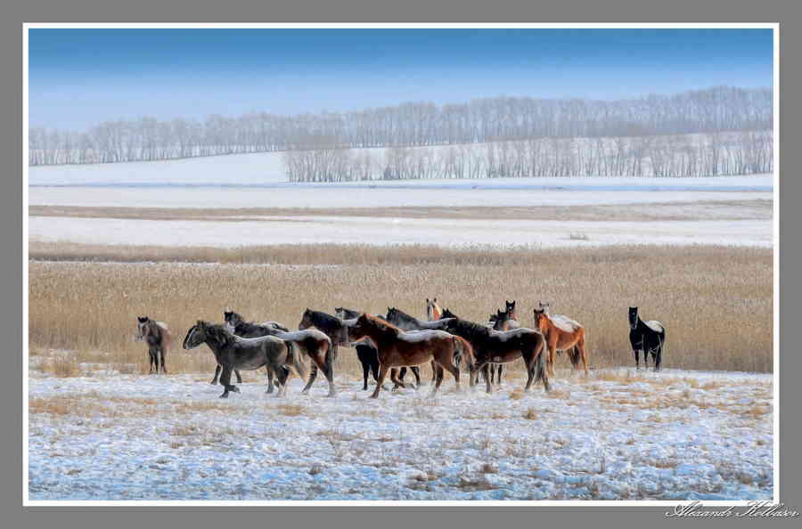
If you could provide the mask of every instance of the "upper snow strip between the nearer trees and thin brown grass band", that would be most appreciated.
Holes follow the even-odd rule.
[[[225,159],[226,157],[221,157]],[[195,161],[195,160],[190,160]],[[158,162],[153,165],[159,165]],[[111,175],[118,166],[108,164]],[[709,178],[497,178],[417,180],[374,183],[273,183],[243,187],[248,175],[220,169],[225,180],[198,186],[198,180],[176,186],[125,186],[101,181],[96,186],[42,187],[32,167],[29,204],[128,208],[375,208],[381,206],[575,206],[771,199],[772,175]],[[183,175],[183,174],[182,174]],[[192,175],[189,175],[192,176]],[[222,176],[221,176],[222,178]]]

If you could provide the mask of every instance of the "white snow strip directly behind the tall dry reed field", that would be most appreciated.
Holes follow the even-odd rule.
[[[510,220],[370,216],[265,217],[262,221],[237,223],[31,216],[29,238],[44,242],[217,248],[304,243],[539,248],[723,244],[769,248],[772,245],[772,221],[516,220],[511,225]]]

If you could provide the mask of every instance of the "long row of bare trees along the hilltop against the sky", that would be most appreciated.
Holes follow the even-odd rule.
[[[590,140],[588,145],[596,145],[601,150],[608,149],[607,143],[613,142],[616,148],[630,151],[648,150],[651,144],[659,143],[660,151],[665,151],[666,145],[673,144],[674,140],[666,143],[649,138],[682,137],[688,134],[702,134],[709,138],[720,133],[770,131],[772,127],[773,94],[768,88],[718,86],[682,94],[649,95],[620,101],[495,97],[440,106],[431,102],[406,102],[397,106],[343,113],[280,116],[259,112],[237,118],[214,115],[202,122],[181,118],[171,121],[140,118],[103,122],[85,132],[32,127],[29,130],[29,165],[150,161],[269,151],[336,153],[366,147],[392,150],[471,143],[492,143],[502,149],[504,145],[514,148],[518,144],[527,144],[535,149],[536,145],[542,144],[546,146],[544,148],[552,150],[550,157],[563,160],[563,151],[569,149],[566,140],[572,138],[582,138],[585,142]],[[754,145],[732,145],[732,142],[747,141],[748,137],[751,138],[749,134],[730,134],[728,137],[731,138],[728,140],[728,149],[746,152],[754,148]],[[765,134],[759,137],[765,139]],[[632,138],[642,138],[642,142]],[[593,142],[593,139],[606,141]],[[679,143],[677,148],[688,148],[683,142]],[[703,143],[707,145],[708,140]],[[494,156],[490,153],[494,149],[487,147],[488,157]],[[459,152],[459,149],[456,151]],[[677,154],[672,151],[669,158],[673,160]],[[617,159],[623,159],[622,156],[619,153]],[[633,152],[632,156],[637,158],[637,152]],[[652,164],[655,156],[659,156],[657,151],[651,155]],[[701,154],[693,158],[699,156]],[[573,162],[567,159],[557,161],[556,167],[566,167],[566,164],[568,167],[586,167],[588,160],[585,155],[577,153],[577,157]],[[291,162],[291,158],[288,157],[288,162]],[[771,159],[771,156],[768,158]],[[495,162],[489,163],[493,167],[496,165]],[[638,163],[633,159],[634,166]],[[761,163],[762,172],[765,162]],[[289,163],[288,167],[291,165]],[[690,170],[694,174],[700,171],[698,164],[691,164],[690,169],[687,165],[683,167],[666,170],[669,173]],[[515,174],[527,172],[506,166],[498,170]],[[642,172],[643,169],[624,167],[621,170],[629,174]],[[292,171],[296,177],[300,177],[297,169]],[[477,171],[482,172],[479,169],[474,172]],[[488,171],[490,175],[497,172],[495,169]],[[662,169],[655,171],[661,172]],[[729,171],[725,169],[724,174]],[[383,167],[379,177],[408,177],[400,175],[409,172],[404,168]],[[451,169],[447,172],[454,173]],[[548,172],[561,174],[563,169],[555,168]],[[421,173],[415,174],[425,177]],[[456,174],[460,172],[456,171]],[[341,175],[340,180],[356,177]],[[323,181],[331,180],[324,178]]]

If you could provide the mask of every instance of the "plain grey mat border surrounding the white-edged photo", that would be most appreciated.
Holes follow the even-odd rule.
[[[26,285],[22,281],[22,23],[23,22],[314,22],[314,21],[463,21],[463,22],[775,22],[779,21],[781,35],[780,85],[780,138],[781,152],[781,229],[780,239],[780,364],[775,366],[780,377],[780,403],[775,404],[780,422],[780,459],[777,474],[781,501],[790,509],[802,511],[799,495],[800,458],[795,446],[799,438],[798,385],[794,375],[802,372],[795,344],[798,342],[799,281],[794,272],[799,261],[798,235],[794,227],[802,223],[800,208],[794,207],[796,198],[802,198],[802,183],[793,175],[798,163],[797,147],[799,128],[798,105],[790,102],[787,94],[795,94],[799,86],[800,47],[798,20],[802,8],[798,2],[768,1],[743,2],[734,0],[675,1],[647,5],[633,0],[618,2],[561,2],[549,5],[531,3],[459,2],[451,0],[432,2],[408,1],[401,3],[375,2],[293,2],[266,5],[250,2],[192,2],[174,0],[169,4],[142,0],[136,4],[112,6],[97,0],[70,2],[29,2],[4,6],[0,20],[0,56],[6,69],[0,90],[3,99],[2,139],[0,150],[6,160],[0,208],[3,222],[3,240],[7,249],[2,258],[3,293],[2,329],[9,343],[4,354],[8,369],[0,371],[4,384],[0,385],[0,405],[6,427],[0,431],[0,509],[4,525],[9,527],[141,527],[169,525],[201,528],[223,525],[275,526],[275,527],[409,527],[458,526],[467,527],[528,527],[555,526],[695,526],[702,523],[731,526],[776,525],[797,526],[798,520],[727,519],[724,522],[696,519],[667,519],[665,507],[459,507],[391,506],[391,507],[48,507],[22,508],[22,428],[23,399],[22,376],[27,372],[22,363],[21,297]],[[795,148],[796,147],[796,148]],[[776,471],[777,469],[775,469]]]

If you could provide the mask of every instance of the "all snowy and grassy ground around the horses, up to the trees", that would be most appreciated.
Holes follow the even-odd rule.
[[[31,168],[31,501],[773,497],[771,175],[289,184],[269,156]],[[226,306],[294,329],[426,297],[472,321],[516,299],[527,326],[547,299],[590,375],[561,355],[549,393],[516,362],[430,398],[424,367],[373,401],[341,347],[333,398],[260,370],[221,400],[208,348],[181,348]],[[634,369],[629,305],[667,327],[660,372]]]

